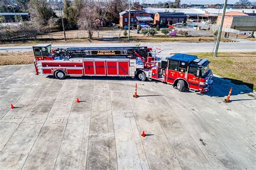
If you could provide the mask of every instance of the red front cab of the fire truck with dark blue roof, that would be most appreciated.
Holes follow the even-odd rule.
[[[167,83],[173,84],[179,91],[186,88],[192,91],[206,92],[213,84],[210,62],[197,56],[176,54],[161,61]],[[163,73],[161,73],[163,74]]]

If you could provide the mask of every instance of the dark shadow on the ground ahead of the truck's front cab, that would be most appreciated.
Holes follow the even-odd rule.
[[[253,92],[253,84],[245,83],[241,80],[229,79],[229,78],[219,78],[213,77],[214,84],[210,91],[205,92],[204,95],[211,97],[225,97],[230,92],[231,87],[233,87],[231,96],[236,96],[238,94],[246,94]],[[254,97],[255,98],[255,97]],[[248,99],[241,100],[253,100],[251,97]],[[233,100],[236,101],[236,100]]]

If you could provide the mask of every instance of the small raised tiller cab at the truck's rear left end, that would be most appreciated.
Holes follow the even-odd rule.
[[[51,60],[51,44],[37,44],[33,46],[33,52],[36,60]]]

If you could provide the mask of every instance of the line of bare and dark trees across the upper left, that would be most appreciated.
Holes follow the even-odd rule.
[[[0,3],[2,9],[6,8],[12,12],[9,4],[12,4],[11,0],[2,0]],[[119,13],[126,10],[128,6],[126,0],[64,0],[63,3],[51,3],[46,0],[17,0],[15,5],[17,12],[20,10],[30,13],[30,21],[23,22],[18,28],[0,26],[0,39],[2,40],[22,36],[26,38],[39,33],[62,30],[62,19],[56,15],[57,12],[55,13],[60,10],[63,10],[66,30],[87,30],[89,38],[91,38],[93,30],[97,26],[95,18],[104,17],[109,23],[118,23]],[[24,27],[29,29],[24,29]],[[31,31],[26,34],[24,30]]]

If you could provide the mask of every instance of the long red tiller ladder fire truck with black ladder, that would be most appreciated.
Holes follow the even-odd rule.
[[[33,46],[36,74],[66,76],[137,77],[159,80],[179,91],[206,92],[213,84],[207,59],[178,53],[161,58],[146,46],[76,47],[51,49],[51,44]]]

